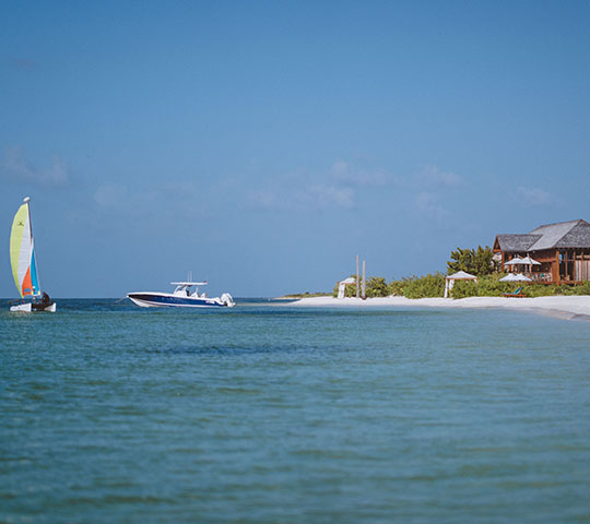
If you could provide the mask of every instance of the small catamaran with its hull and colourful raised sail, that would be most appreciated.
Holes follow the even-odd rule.
[[[47,293],[42,291],[37,272],[37,259],[33,242],[31,226],[31,199],[26,196],[14,215],[10,233],[10,263],[16,289],[21,300],[12,301],[11,311],[30,313],[32,311],[56,311],[54,302]],[[27,298],[25,300],[25,297]]]

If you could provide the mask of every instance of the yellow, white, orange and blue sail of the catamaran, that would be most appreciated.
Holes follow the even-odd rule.
[[[14,283],[21,297],[25,297],[26,295],[39,296],[39,278],[37,275],[37,264],[35,263],[28,199],[25,199],[25,203],[19,207],[12,222],[10,263],[12,265]]]

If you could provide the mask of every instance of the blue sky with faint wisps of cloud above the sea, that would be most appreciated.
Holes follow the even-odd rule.
[[[278,296],[590,221],[588,1],[0,0],[0,296]]]

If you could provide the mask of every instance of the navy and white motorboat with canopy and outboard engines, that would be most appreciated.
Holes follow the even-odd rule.
[[[208,297],[205,293],[199,295],[199,287],[206,286],[206,282],[170,282],[176,286],[174,293],[133,291],[127,297],[141,308],[233,308],[235,306],[232,295],[224,293],[221,297]],[[192,288],[194,287],[194,291]]]

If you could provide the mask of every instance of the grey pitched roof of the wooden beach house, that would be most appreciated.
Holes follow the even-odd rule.
[[[531,252],[553,248],[590,248],[590,224],[570,221],[539,226],[528,235],[498,235],[496,241],[505,252]]]

